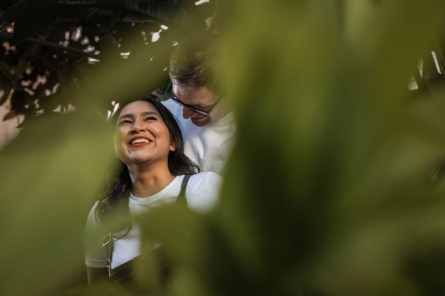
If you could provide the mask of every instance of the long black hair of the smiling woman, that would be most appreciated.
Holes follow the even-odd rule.
[[[170,173],[173,176],[186,174],[194,175],[199,173],[200,169],[198,165],[184,154],[182,133],[175,116],[173,116],[173,114],[159,101],[151,97],[146,97],[141,100],[128,101],[120,105],[119,110],[116,111],[115,114],[118,116],[123,107],[135,101],[146,101],[153,104],[169,130],[170,141],[176,143],[175,151],[170,151],[168,156]],[[114,118],[110,118],[110,121],[113,119]],[[114,120],[112,122],[114,122]],[[115,209],[128,210],[129,196],[132,190],[132,180],[130,178],[127,165],[121,160],[118,161],[119,164],[116,167],[115,172],[110,175],[110,178],[107,181],[107,189],[100,197],[99,203],[95,209],[96,217],[99,219],[99,221],[103,220],[108,213],[113,212]],[[130,214],[129,211],[126,212]]]

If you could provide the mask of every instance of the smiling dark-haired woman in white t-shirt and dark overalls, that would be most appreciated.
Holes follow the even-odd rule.
[[[131,218],[175,202],[197,211],[210,210],[221,177],[213,172],[199,173],[198,166],[184,155],[181,131],[170,111],[147,98],[123,104],[117,113],[114,149],[120,164],[109,189],[89,213],[87,237],[100,233],[102,222],[112,219],[116,209],[124,209]],[[120,286],[132,284],[130,275],[140,254],[135,222],[105,237],[96,235],[86,247],[89,283],[108,275]]]

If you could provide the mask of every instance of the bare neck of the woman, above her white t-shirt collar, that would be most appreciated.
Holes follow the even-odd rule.
[[[135,197],[152,196],[164,189],[175,176],[170,173],[168,165],[133,164],[127,166],[132,179],[132,194]]]

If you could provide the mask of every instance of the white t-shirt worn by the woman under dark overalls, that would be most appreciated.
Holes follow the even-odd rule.
[[[145,213],[152,208],[165,204],[174,203],[179,195],[184,176],[177,176],[173,181],[158,193],[149,197],[134,197],[130,194],[129,208],[132,217]],[[212,209],[218,198],[222,178],[213,172],[204,172],[190,176],[185,189],[187,207],[198,212],[205,212]],[[94,233],[100,227],[97,222],[94,210],[98,201],[89,212],[86,232]],[[111,268],[115,268],[141,254],[140,251],[140,230],[137,224],[133,224],[130,232],[123,238],[116,240],[113,245],[113,256]],[[91,267],[106,267],[107,256],[102,245],[103,237],[97,237],[92,247],[85,251],[85,263]]]

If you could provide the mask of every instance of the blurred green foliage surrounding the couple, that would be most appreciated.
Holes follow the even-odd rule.
[[[21,131],[0,151],[0,294],[131,295],[86,285],[104,118],[162,92],[176,42],[212,30],[237,114],[220,207],[140,221],[178,254],[178,295],[444,295],[444,8],[2,1],[0,105]]]

